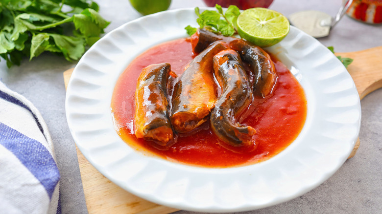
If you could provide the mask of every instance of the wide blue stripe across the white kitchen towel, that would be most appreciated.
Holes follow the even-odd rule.
[[[11,151],[24,166],[40,181],[52,198],[60,173],[52,155],[37,140],[0,122],[0,144]]]

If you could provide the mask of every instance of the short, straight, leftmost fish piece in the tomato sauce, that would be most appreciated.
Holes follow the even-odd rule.
[[[148,65],[143,68],[135,91],[135,136],[161,146],[173,139],[167,95],[170,73],[168,63]]]

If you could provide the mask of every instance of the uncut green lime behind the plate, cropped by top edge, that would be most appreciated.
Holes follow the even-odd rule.
[[[167,10],[171,0],[130,0],[131,5],[143,16]]]

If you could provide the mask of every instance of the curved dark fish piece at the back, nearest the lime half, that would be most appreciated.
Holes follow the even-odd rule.
[[[272,93],[278,75],[269,54],[259,46],[235,37],[218,35],[205,28],[198,29],[191,36],[191,44],[195,53],[200,52],[215,41],[228,43],[230,48],[239,52],[244,62],[250,64],[255,77],[253,81],[253,93],[255,96],[265,97]]]

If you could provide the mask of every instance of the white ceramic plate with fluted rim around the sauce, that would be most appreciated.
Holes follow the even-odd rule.
[[[119,138],[110,111],[119,75],[147,48],[187,37],[184,27],[197,26],[195,20],[193,8],[146,16],[108,33],[81,58],[68,86],[66,114],[74,141],[88,161],[130,193],[200,212],[275,205],[307,193],[334,174],[358,137],[358,93],[335,56],[295,27],[266,50],[303,86],[308,115],[297,139],[275,157],[251,166],[206,169],[144,156]]]

